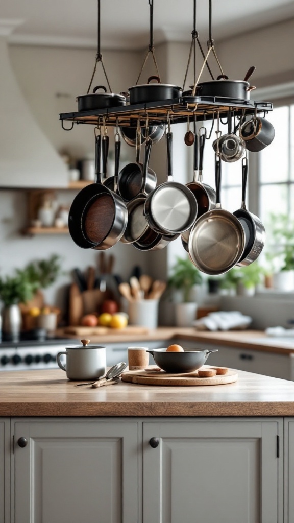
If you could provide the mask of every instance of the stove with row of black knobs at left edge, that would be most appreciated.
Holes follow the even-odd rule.
[[[0,371],[58,368],[56,357],[65,347],[77,345],[76,339],[45,338],[20,339],[0,343]]]

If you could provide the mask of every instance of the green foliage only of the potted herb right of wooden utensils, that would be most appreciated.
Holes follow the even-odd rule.
[[[168,279],[168,288],[182,290],[183,301],[189,301],[190,290],[194,285],[202,282],[201,272],[193,265],[189,258],[177,257]]]

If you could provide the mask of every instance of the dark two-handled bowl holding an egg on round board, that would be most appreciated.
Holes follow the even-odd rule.
[[[184,349],[183,353],[166,352],[166,349],[154,349],[147,352],[152,354],[156,365],[162,370],[176,374],[200,369],[210,353],[217,353],[218,349]]]

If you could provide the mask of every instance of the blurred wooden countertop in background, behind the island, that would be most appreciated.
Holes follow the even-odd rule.
[[[58,329],[56,332],[59,336],[69,337],[63,329]],[[70,335],[74,338],[75,336]],[[268,337],[263,331],[197,331],[193,327],[158,327],[150,330],[146,334],[130,334],[128,331],[117,333],[115,329],[109,334],[91,336],[91,343],[110,344],[110,343],[126,343],[132,342],[148,342],[151,340],[162,340],[168,344],[171,339],[186,339],[195,340],[197,346],[199,343],[212,343],[223,345],[227,347],[238,347],[251,350],[262,350],[276,354],[294,353],[294,343],[292,348],[283,347],[280,342],[275,341],[273,337]],[[76,339],[79,339],[78,337]],[[260,341],[259,341],[260,340]],[[165,345],[163,345],[165,346]]]

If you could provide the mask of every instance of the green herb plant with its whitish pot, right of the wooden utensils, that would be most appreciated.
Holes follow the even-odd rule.
[[[202,283],[201,272],[193,265],[189,258],[177,257],[168,278],[168,288],[182,293],[182,301],[175,305],[175,319],[179,327],[191,326],[196,320],[197,303],[191,301],[191,290],[195,285]]]

